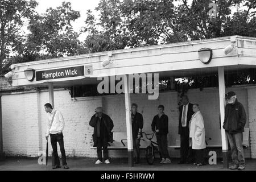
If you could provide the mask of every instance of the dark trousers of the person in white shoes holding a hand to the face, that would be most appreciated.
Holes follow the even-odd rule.
[[[97,155],[98,160],[103,162],[102,160],[102,147],[103,147],[103,156],[104,160],[109,159],[109,151],[108,151],[108,137],[99,137],[97,138]]]

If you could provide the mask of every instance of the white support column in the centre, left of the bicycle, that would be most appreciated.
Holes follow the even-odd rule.
[[[125,88],[125,114],[126,114],[126,133],[127,133],[127,146],[128,146],[128,160],[129,166],[133,167],[133,132],[131,127],[131,98],[130,98],[130,84],[129,76],[124,75],[124,88]]]

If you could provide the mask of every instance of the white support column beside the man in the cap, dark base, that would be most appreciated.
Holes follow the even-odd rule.
[[[218,89],[220,94],[220,118],[221,118],[221,142],[222,142],[223,167],[229,168],[228,139],[226,137],[226,132],[222,127],[224,123],[224,118],[225,118],[225,105],[226,105],[224,67],[218,67]]]

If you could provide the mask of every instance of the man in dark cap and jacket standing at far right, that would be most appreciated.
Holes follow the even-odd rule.
[[[243,105],[238,102],[236,93],[226,94],[228,104],[225,108],[225,119],[223,128],[228,136],[231,156],[234,165],[230,169],[245,169],[245,155],[243,153],[243,131],[246,123],[246,113]]]

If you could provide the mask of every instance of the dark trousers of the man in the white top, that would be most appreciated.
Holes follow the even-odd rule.
[[[63,134],[50,134],[50,136],[51,136],[51,144],[52,144],[52,150],[53,150],[55,165],[60,166],[59,155],[58,155],[58,152],[57,152],[57,142],[59,143],[59,146],[60,146],[62,165],[67,165]]]

